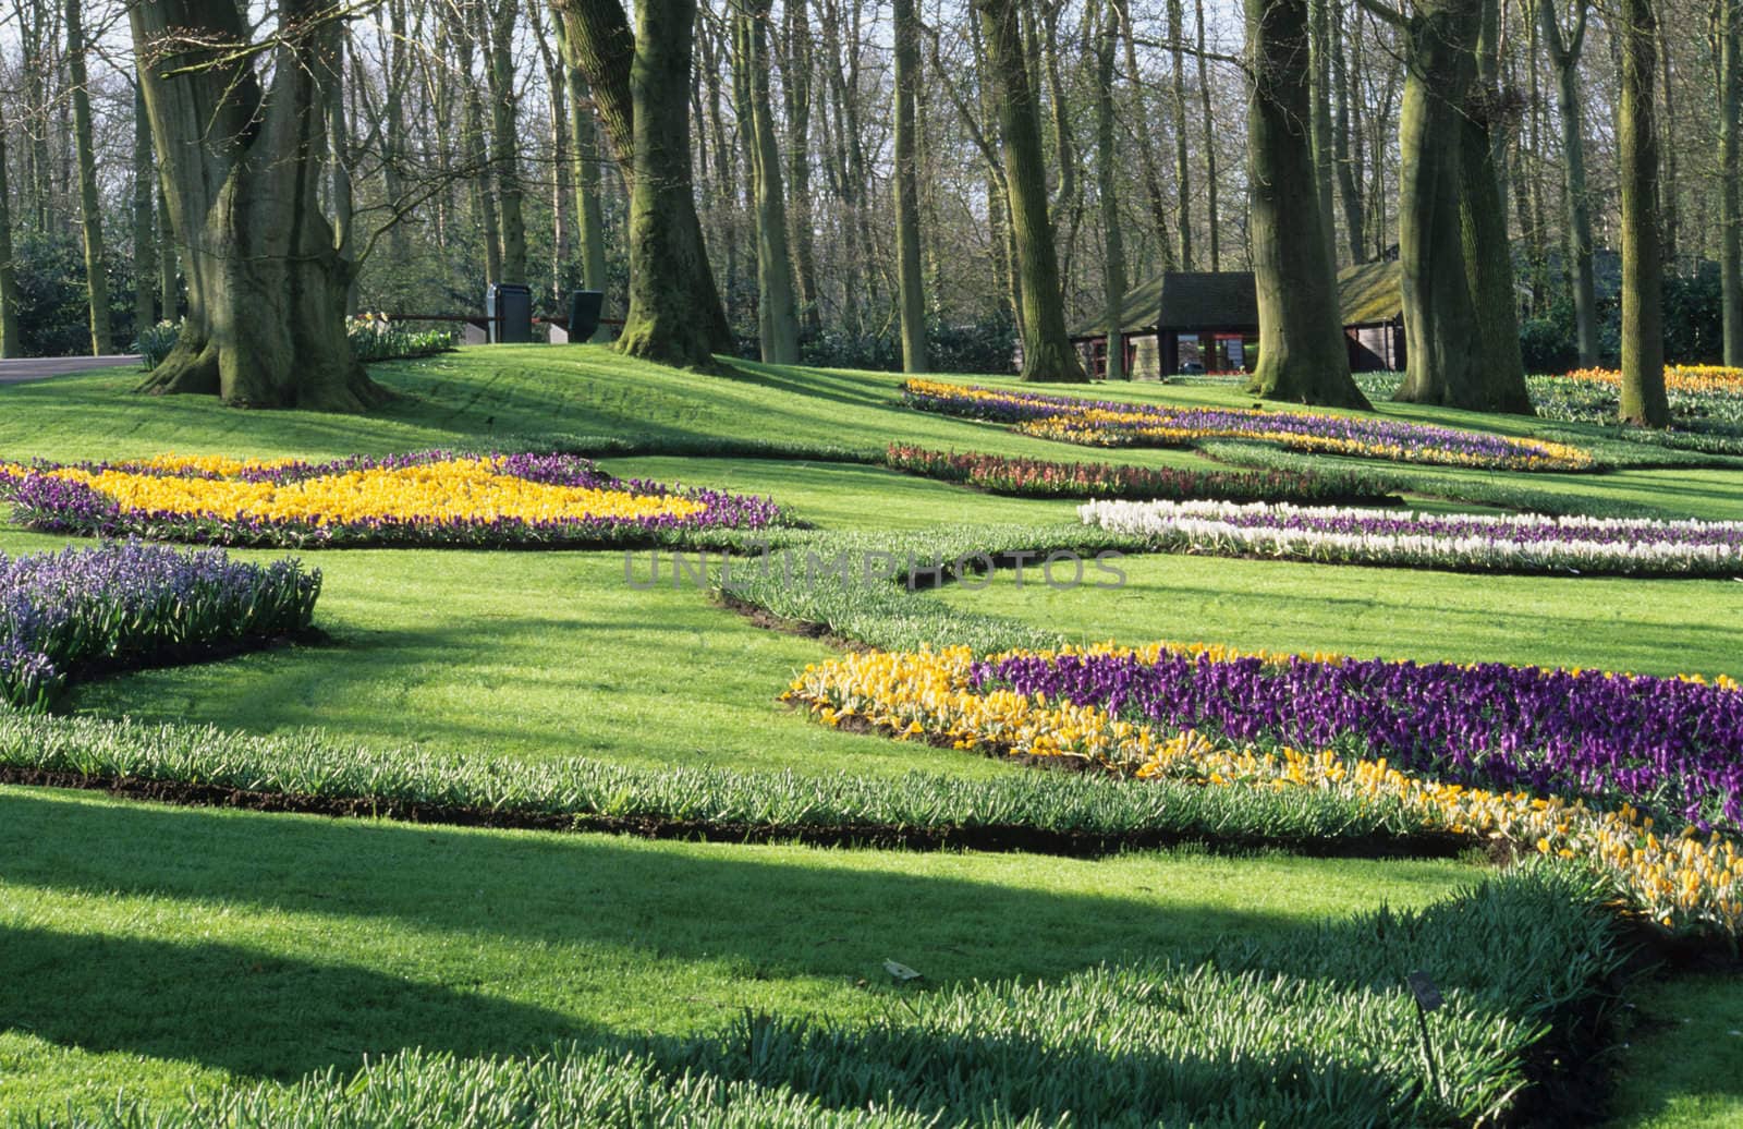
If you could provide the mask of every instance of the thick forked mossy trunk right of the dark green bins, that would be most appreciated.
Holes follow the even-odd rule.
[[[671,0],[638,0],[640,38],[661,35],[673,40],[641,44],[629,30],[629,17],[619,0],[553,3],[563,16],[565,57],[587,80],[600,125],[629,190],[629,312],[619,348],[650,361],[709,364],[709,354],[730,352],[734,340],[708,265],[690,176],[694,28],[688,23],[682,30],[675,26]],[[688,9],[694,23],[694,0],[682,7]],[[662,91],[661,77],[678,85]],[[659,118],[657,124],[645,125],[638,118],[643,101]],[[678,132],[661,134],[661,129]],[[638,139],[643,134],[655,152],[641,152]],[[647,171],[657,171],[661,181],[643,185]],[[671,176],[682,181],[666,179]],[[654,275],[638,277],[648,272]],[[671,340],[664,340],[668,331],[673,333]]]

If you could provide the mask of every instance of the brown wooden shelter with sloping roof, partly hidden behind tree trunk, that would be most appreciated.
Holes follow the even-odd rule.
[[[1349,338],[1349,368],[1400,369],[1405,362],[1403,293],[1398,261],[1339,272],[1339,303]],[[1180,373],[1245,373],[1258,352],[1258,291],[1246,270],[1156,275],[1121,300],[1121,343],[1133,380]],[[1072,329],[1091,376],[1107,373],[1107,324]]]

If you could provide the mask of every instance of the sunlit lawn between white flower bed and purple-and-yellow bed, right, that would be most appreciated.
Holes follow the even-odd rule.
[[[1246,650],[1738,674],[1734,580],[1495,577],[1197,556],[1128,556],[1116,591],[1011,571],[938,592],[1072,641],[1229,643]]]

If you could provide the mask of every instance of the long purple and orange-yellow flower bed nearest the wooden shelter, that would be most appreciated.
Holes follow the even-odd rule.
[[[1190,446],[1206,439],[1246,439],[1321,455],[1494,470],[1584,470],[1593,465],[1590,453],[1560,443],[1370,416],[1086,401],[936,380],[906,380],[901,395],[905,404],[920,411],[1013,423],[1027,436],[1088,446]]]

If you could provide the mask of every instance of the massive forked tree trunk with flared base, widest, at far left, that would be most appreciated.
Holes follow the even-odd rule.
[[[249,408],[361,411],[387,394],[350,354],[350,268],[321,214],[326,115],[315,87],[329,0],[286,0],[272,85],[228,0],[129,7],[188,317],[143,390]]]

